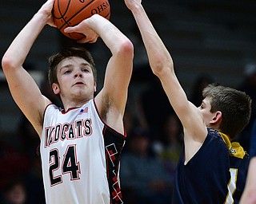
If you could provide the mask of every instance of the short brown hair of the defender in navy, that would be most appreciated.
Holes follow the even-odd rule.
[[[222,112],[220,130],[234,139],[249,123],[251,99],[245,92],[219,84],[209,84],[202,91],[210,99],[210,112]]]

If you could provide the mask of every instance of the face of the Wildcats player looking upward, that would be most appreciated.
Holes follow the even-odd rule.
[[[68,57],[60,62],[57,69],[58,84],[53,85],[54,93],[62,100],[89,100],[96,91],[96,83],[90,64],[81,57]]]

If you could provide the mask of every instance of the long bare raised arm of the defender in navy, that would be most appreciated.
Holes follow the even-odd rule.
[[[200,145],[206,138],[206,127],[203,124],[198,108],[187,100],[186,93],[178,82],[170,53],[147,17],[142,7],[142,1],[125,0],[125,2],[134,15],[138,29],[142,34],[150,67],[153,73],[161,80],[170,104],[182,122],[186,139],[197,141],[198,145]],[[195,135],[197,135],[196,138],[194,138]]]

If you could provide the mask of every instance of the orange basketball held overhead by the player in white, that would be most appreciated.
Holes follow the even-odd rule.
[[[82,33],[64,33],[69,26],[76,26],[86,18],[99,14],[110,19],[110,3],[108,0],[55,0],[53,18],[57,28],[66,36],[79,40]]]

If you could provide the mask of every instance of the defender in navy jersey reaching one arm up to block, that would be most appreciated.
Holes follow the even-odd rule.
[[[234,88],[210,84],[203,90],[201,106],[195,107],[179,84],[170,53],[147,17],[142,0],[124,1],[142,34],[150,67],[183,126],[184,147],[173,203],[238,203],[247,156],[232,142],[250,120],[250,97]]]

